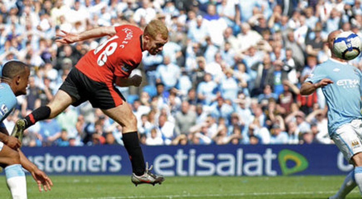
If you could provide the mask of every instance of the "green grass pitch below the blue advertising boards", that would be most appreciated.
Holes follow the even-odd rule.
[[[344,176],[288,177],[167,177],[162,185],[135,187],[130,176],[50,176],[54,186],[40,193],[28,175],[29,199],[136,199],[136,198],[277,198],[326,199]],[[5,177],[0,176],[0,198],[10,198]],[[359,198],[356,187],[347,198]]]

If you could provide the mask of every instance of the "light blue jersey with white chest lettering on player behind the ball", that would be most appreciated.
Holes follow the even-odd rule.
[[[328,131],[331,136],[342,124],[362,119],[362,73],[345,62],[328,59],[315,67],[306,82],[317,83],[323,78],[333,81],[333,84],[322,87],[328,105]]]

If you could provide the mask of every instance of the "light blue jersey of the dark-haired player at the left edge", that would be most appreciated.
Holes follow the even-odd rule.
[[[0,83],[0,127],[5,127],[3,120],[11,113],[16,103],[16,96],[9,84]]]

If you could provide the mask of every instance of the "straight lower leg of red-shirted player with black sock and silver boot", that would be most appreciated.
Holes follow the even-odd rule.
[[[150,171],[152,166],[148,168],[148,164],[145,165],[144,163],[142,149],[138,140],[137,119],[132,113],[130,105],[123,102],[122,105],[102,111],[122,126],[122,140],[132,163],[133,174],[131,181],[136,186],[142,183],[161,184],[164,177],[152,174]]]

